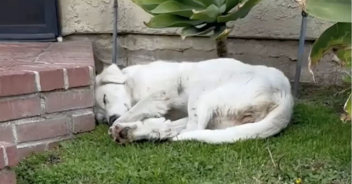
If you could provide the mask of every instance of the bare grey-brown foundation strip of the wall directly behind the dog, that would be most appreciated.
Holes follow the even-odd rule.
[[[64,40],[90,40],[93,43],[96,73],[103,63],[112,62],[112,36],[110,34],[70,35]],[[301,82],[314,83],[308,71],[307,58],[312,42],[307,42]],[[228,57],[253,65],[266,65],[282,70],[290,80],[294,79],[298,41],[270,39],[228,39]],[[155,60],[197,62],[216,58],[215,44],[208,38],[193,37],[181,40],[179,36],[123,35],[119,36],[118,65],[122,67],[146,64]],[[341,70],[331,56],[322,59],[315,72],[318,85],[341,85]]]

